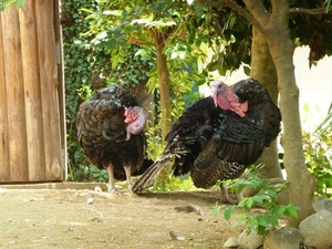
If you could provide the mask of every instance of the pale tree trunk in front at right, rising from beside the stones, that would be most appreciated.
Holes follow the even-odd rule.
[[[270,15],[266,39],[278,75],[279,103],[283,120],[283,163],[290,183],[289,201],[300,207],[298,219],[290,219],[289,222],[298,227],[300,221],[313,212],[314,180],[305,167],[303,157],[299,89],[293,65],[294,45],[288,29],[288,1],[274,1],[274,4],[276,12]]]

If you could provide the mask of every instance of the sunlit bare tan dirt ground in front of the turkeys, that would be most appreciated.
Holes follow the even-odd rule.
[[[217,191],[111,195],[0,185],[0,249],[222,248],[240,227],[214,214],[218,197]],[[184,206],[199,211],[183,212]]]

